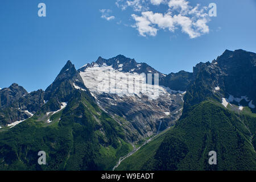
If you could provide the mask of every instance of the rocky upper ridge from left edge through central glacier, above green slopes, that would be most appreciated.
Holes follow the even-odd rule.
[[[156,78],[155,74],[158,74]],[[163,81],[166,77],[171,81]],[[185,80],[179,86],[186,88],[188,77],[187,72],[166,76],[146,63],[137,63],[122,55],[111,59],[99,57],[78,71],[68,61],[45,91],[17,92],[15,102],[10,101],[12,105],[7,107],[9,110],[0,111],[1,122],[7,125],[33,114],[40,115],[39,120],[50,122],[51,115],[68,105],[74,90],[80,90],[122,125],[127,138],[134,142],[175,125],[182,113],[184,92],[168,86],[177,88],[177,82]],[[157,78],[160,85],[155,82]]]

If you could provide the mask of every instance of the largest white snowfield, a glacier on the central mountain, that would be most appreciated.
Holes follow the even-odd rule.
[[[143,94],[151,100],[160,94],[168,94],[162,86],[147,84],[146,74],[120,72],[112,66],[86,68],[80,76],[90,92],[113,93],[119,97]]]

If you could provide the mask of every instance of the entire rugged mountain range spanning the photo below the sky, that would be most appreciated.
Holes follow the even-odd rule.
[[[0,90],[0,169],[255,170],[255,105],[241,49],[168,75],[122,55],[68,61],[46,90]]]

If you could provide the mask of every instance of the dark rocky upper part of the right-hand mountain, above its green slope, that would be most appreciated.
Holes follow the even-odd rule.
[[[256,105],[256,54],[226,50],[212,63],[199,63],[193,68],[193,78],[185,95],[184,107],[214,98],[226,98],[237,106]],[[229,99],[230,97],[230,99]]]

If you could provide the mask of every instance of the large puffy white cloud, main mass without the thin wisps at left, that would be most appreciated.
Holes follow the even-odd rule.
[[[156,36],[160,29],[174,32],[180,27],[182,32],[193,39],[209,32],[209,18],[205,8],[199,10],[199,5],[189,6],[185,0],[171,0],[168,6],[170,9],[164,14],[152,11],[144,11],[141,16],[133,14],[139,34]]]

